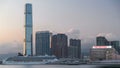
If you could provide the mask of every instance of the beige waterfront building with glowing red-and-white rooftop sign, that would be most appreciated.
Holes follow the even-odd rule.
[[[117,59],[116,53],[112,46],[93,46],[90,49],[90,60],[115,60]]]

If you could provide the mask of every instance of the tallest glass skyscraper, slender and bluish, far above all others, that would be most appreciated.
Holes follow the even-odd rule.
[[[32,4],[27,3],[25,5],[25,45],[24,55],[32,56]]]

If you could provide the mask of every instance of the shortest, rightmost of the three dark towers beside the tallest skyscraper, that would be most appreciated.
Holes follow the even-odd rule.
[[[79,58],[79,59],[81,58],[81,40],[80,39],[70,39],[69,57]]]

